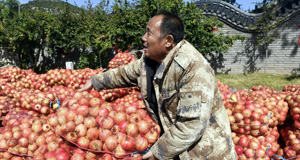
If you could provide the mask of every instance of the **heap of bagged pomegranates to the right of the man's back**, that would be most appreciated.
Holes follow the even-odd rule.
[[[282,91],[253,86],[235,92],[221,82],[218,86],[238,159],[300,158],[299,85],[284,86]],[[292,127],[286,127],[289,124]]]

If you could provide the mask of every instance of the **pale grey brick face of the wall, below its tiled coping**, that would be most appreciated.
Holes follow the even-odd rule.
[[[294,16],[281,26],[275,34],[278,36],[268,47],[259,47],[255,43],[255,34],[238,31],[228,25],[219,30],[229,35],[243,35],[244,42],[236,41],[223,55],[223,67],[218,72],[233,74],[260,72],[291,74],[300,70],[300,15]],[[214,65],[214,64],[212,64]]]

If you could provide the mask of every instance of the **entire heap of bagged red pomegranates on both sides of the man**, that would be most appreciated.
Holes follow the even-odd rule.
[[[119,52],[109,68],[136,60]],[[139,87],[78,92],[104,69],[45,74],[0,69],[0,158],[142,159],[161,128],[145,110]],[[239,160],[300,158],[300,86],[232,91],[217,82]]]

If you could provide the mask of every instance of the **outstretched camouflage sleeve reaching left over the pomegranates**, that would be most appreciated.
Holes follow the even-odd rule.
[[[137,78],[140,75],[141,63],[142,58],[131,62],[128,65],[94,75],[91,77],[92,85],[97,91],[102,89],[136,86]]]

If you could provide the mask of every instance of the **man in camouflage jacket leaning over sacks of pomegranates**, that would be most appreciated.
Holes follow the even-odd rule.
[[[146,29],[142,58],[92,76],[80,91],[140,86],[148,113],[164,131],[143,159],[237,159],[213,70],[183,40],[182,21],[162,12]]]

